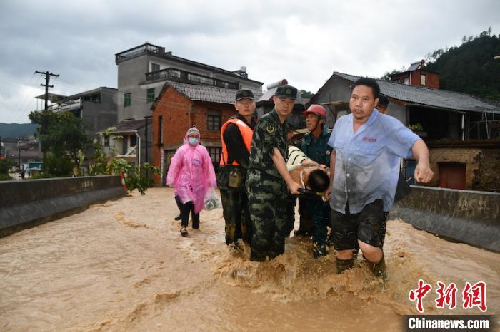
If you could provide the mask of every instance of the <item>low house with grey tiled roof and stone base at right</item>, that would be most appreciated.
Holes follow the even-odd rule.
[[[421,69],[415,66],[410,71],[412,77],[424,72]],[[399,76],[392,77],[396,80]],[[350,86],[358,78],[334,72],[311,98],[309,103],[325,106],[329,128],[339,116],[349,113]],[[426,78],[425,83],[433,80]],[[389,99],[389,115],[412,128],[429,146],[434,171],[429,185],[499,190],[500,108],[464,93],[429,88],[422,82],[410,85],[377,80],[381,93]],[[411,183],[414,167],[414,160],[404,162],[406,179]]]

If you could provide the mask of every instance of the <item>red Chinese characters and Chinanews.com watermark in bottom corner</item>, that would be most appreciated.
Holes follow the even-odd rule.
[[[461,291],[454,283],[446,285],[437,281],[434,298],[434,306],[438,309],[479,308],[484,315],[424,315],[424,299],[432,294],[432,288],[431,284],[420,279],[416,289],[409,291],[408,299],[415,303],[421,315],[403,316],[404,331],[496,331],[496,317],[486,314],[488,304],[484,281],[476,284],[466,282]],[[431,300],[428,298],[426,301]]]

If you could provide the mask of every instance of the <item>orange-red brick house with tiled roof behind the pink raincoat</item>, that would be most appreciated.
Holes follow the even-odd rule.
[[[236,115],[236,90],[211,85],[194,85],[166,81],[151,107],[153,114],[152,165],[159,167],[156,184],[165,185],[171,157],[184,143],[186,131],[199,129],[201,145],[209,151],[217,169],[221,158],[221,125]],[[256,98],[260,97],[256,93]]]

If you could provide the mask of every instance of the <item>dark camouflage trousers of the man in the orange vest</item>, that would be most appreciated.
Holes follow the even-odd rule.
[[[237,239],[250,244],[251,222],[245,188],[221,189],[221,201],[226,222],[226,244],[234,243]]]

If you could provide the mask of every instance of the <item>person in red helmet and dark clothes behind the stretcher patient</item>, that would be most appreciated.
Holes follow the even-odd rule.
[[[313,104],[304,112],[306,127],[309,133],[304,135],[301,150],[309,159],[326,167],[330,159],[331,147],[327,145],[330,138],[326,128],[326,110],[321,105]],[[311,234],[313,240],[313,256],[326,256],[326,226],[329,224],[330,207],[327,202],[316,199],[299,199],[301,223],[296,235]],[[308,224],[310,225],[308,227]]]

